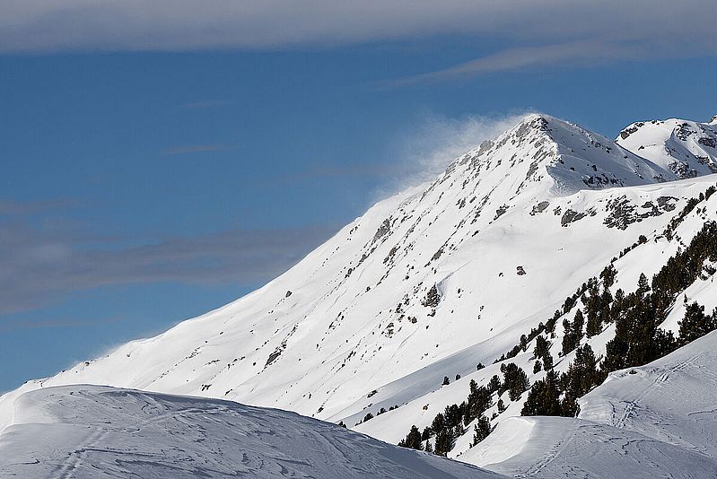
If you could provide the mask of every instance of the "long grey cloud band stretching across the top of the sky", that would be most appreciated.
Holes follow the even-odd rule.
[[[436,81],[531,65],[716,55],[715,24],[713,0],[5,0],[0,52],[326,48],[438,35],[498,45],[415,78]]]

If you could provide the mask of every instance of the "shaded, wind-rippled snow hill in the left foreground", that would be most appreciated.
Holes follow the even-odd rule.
[[[97,386],[20,398],[0,436],[0,475],[497,478],[285,411]]]

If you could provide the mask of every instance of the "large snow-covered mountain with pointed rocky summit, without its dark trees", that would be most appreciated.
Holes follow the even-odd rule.
[[[556,309],[558,327],[541,337],[565,371],[575,353],[562,355],[560,325],[581,307],[565,307],[567,297],[606,266],[616,269],[612,293],[633,291],[641,273],[660,271],[717,220],[717,195],[704,196],[717,177],[699,176],[709,161],[685,175],[647,146],[634,148],[631,138],[658,124],[649,125],[616,143],[529,115],[433,183],[374,205],[256,292],[0,397],[0,431],[23,393],[101,384],[278,407],[395,444],[465,401],[471,380],[484,386],[500,376],[503,363],[527,371],[531,384],[544,379],[532,372],[537,338],[514,346]],[[712,137],[704,132],[713,125],[700,127]],[[693,140],[706,141],[688,135],[683,146]],[[682,294],[711,310],[717,292],[713,276],[704,278]],[[677,331],[685,306],[678,299],[670,311],[663,327]],[[605,325],[583,343],[604,355],[614,335]],[[503,424],[534,421],[516,418],[526,394],[506,396],[504,410],[494,401],[485,411],[498,427],[482,448],[506,436]],[[448,455],[485,465],[470,448],[474,425],[457,432]],[[503,448],[503,459],[515,454]]]

